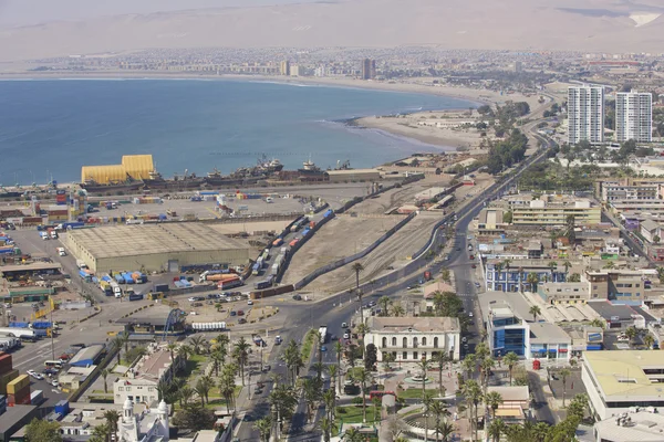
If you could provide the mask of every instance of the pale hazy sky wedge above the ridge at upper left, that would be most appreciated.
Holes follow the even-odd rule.
[[[320,0],[0,0],[0,24],[22,25],[123,13],[317,1]]]

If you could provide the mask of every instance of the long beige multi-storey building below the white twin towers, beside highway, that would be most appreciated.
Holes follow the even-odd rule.
[[[568,217],[574,217],[575,225],[599,224],[602,209],[588,199],[569,196],[542,196],[526,204],[512,208],[513,225],[566,225]]]

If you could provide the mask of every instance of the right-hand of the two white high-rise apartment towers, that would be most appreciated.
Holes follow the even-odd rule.
[[[615,137],[619,143],[653,140],[653,95],[619,92],[615,97]]]

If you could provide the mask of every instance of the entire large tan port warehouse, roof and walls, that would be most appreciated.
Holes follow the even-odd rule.
[[[158,223],[71,231],[68,249],[100,274],[124,269],[179,272],[183,265],[240,265],[249,245],[199,223]]]

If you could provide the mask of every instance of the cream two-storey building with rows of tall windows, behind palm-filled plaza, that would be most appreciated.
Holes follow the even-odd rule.
[[[454,317],[371,317],[364,345],[373,344],[378,361],[391,352],[396,362],[430,359],[445,352],[459,360],[459,319]]]

